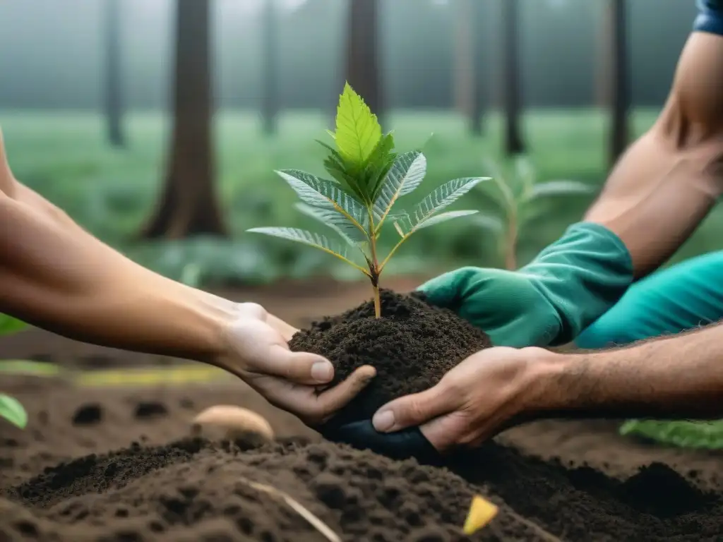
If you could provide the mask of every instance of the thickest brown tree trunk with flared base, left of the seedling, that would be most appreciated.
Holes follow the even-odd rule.
[[[213,178],[210,0],[177,0],[174,121],[166,186],[146,238],[225,235]]]

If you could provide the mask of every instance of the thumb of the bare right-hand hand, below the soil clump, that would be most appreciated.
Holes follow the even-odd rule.
[[[380,433],[399,431],[449,413],[455,409],[456,403],[455,397],[450,395],[444,384],[437,384],[424,392],[387,403],[377,410],[372,423]]]

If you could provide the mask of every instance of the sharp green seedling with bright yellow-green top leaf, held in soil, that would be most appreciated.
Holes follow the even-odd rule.
[[[379,279],[390,258],[412,233],[474,214],[476,211],[439,211],[489,178],[466,177],[448,181],[411,210],[393,212],[398,199],[411,194],[422,183],[427,173],[427,158],[416,150],[398,155],[392,133],[382,134],[377,116],[348,83],[339,98],[336,131],[329,134],[335,148],[319,143],[329,152],[324,168],[331,179],[298,170],[276,173],[301,199],[296,208],[333,229],[343,243],[299,228],[251,228],[248,231],[315,246],[356,267],[371,280],[375,314],[380,318]],[[377,241],[385,223],[393,223],[399,240],[385,257],[380,257]],[[361,254],[361,264],[349,254],[349,247],[354,254]]]

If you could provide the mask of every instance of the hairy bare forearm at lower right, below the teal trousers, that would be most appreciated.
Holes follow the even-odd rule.
[[[582,418],[720,418],[723,325],[551,358],[539,412]]]

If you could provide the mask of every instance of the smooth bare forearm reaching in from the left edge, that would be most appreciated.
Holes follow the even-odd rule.
[[[20,186],[25,197],[0,194],[0,311],[114,348],[219,353],[233,304],[145,270]]]

